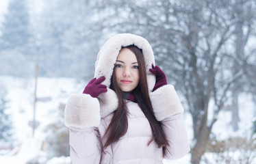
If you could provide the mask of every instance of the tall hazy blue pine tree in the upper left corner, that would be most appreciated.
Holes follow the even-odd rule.
[[[0,36],[0,74],[29,74],[33,49],[27,0],[10,0]]]

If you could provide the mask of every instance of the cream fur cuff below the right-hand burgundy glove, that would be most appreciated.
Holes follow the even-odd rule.
[[[155,117],[158,121],[182,113],[181,101],[172,85],[164,85],[149,94]]]

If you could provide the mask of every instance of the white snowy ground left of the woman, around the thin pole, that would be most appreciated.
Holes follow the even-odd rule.
[[[77,84],[75,79],[38,79],[36,102],[36,121],[38,128],[32,133],[29,122],[34,115],[34,86],[35,80],[1,76],[0,85],[7,90],[8,111],[14,126],[14,145],[16,148],[0,156],[0,163],[26,163],[29,159],[40,156],[42,141],[46,137],[45,127],[56,120],[55,109],[60,103],[65,103],[69,94],[83,90],[83,83]],[[18,152],[18,154],[16,154]],[[15,155],[14,155],[15,154]],[[45,155],[44,155],[45,156]],[[18,161],[18,162],[14,162]],[[56,161],[56,159],[55,159]],[[60,162],[63,163],[63,162]]]

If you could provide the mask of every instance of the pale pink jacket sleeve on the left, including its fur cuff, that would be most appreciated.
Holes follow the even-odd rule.
[[[97,98],[88,94],[71,94],[64,111],[64,123],[70,132],[70,155],[73,164],[100,163],[102,144],[97,128],[100,121]]]

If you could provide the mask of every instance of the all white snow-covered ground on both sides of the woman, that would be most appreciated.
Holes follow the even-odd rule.
[[[56,120],[57,115],[54,114],[60,103],[66,103],[69,94],[81,93],[84,90],[86,82],[76,81],[75,79],[66,78],[44,78],[38,79],[38,90],[36,103],[36,120],[39,122],[38,128],[32,135],[31,126],[29,122],[33,120],[34,114],[34,79],[21,79],[16,77],[1,76],[0,86],[7,90],[8,111],[11,113],[12,121],[14,122],[14,145],[16,148],[12,152],[0,154],[0,163],[19,163],[25,164],[27,160],[33,159],[36,156],[44,156],[45,152],[40,150],[42,141],[46,137],[44,128]],[[251,131],[253,115],[255,115],[255,106],[250,99],[250,96],[244,94],[240,98],[240,131],[233,132],[229,122],[231,121],[231,113],[223,111],[219,115],[218,122],[214,125],[214,135],[218,139],[226,139],[231,136],[244,136],[248,135]],[[188,128],[188,137],[192,142],[192,120],[188,113],[184,113],[183,120]],[[19,144],[21,144],[19,146]],[[18,154],[15,154],[16,149],[20,149]],[[16,151],[17,152],[17,151]],[[68,157],[55,157],[53,159],[46,159],[44,163],[58,164],[70,163]],[[190,163],[190,154],[176,161],[164,160],[165,164],[188,164]]]

